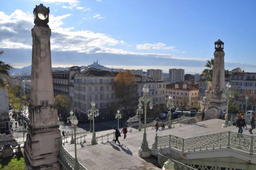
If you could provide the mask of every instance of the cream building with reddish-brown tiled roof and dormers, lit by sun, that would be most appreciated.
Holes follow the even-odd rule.
[[[198,103],[198,85],[189,82],[175,82],[166,85],[166,101],[173,97],[175,106],[195,107]]]

